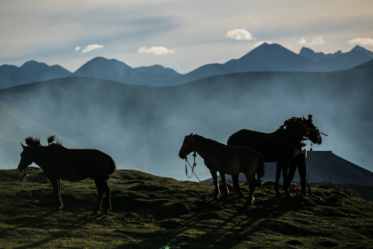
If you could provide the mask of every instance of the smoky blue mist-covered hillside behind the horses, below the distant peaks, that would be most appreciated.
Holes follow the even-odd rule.
[[[373,171],[372,79],[370,72],[262,72],[151,87],[68,77],[3,89],[0,101],[79,147],[104,151],[119,169],[178,180],[187,179],[178,157],[185,135],[226,143],[240,129],[273,132],[287,118],[310,113],[328,134],[314,150],[333,151]],[[10,161],[15,168],[19,157]],[[198,177],[209,178],[199,156],[197,163]]]

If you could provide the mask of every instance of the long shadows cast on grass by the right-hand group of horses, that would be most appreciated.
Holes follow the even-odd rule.
[[[217,201],[207,201],[205,196],[200,196],[193,205],[187,204],[189,212],[182,204],[165,214],[154,211],[151,215],[160,229],[140,235],[143,237],[141,243],[123,243],[117,248],[231,248],[243,241],[254,241],[258,232],[267,229],[271,220],[289,211],[307,208],[307,203],[296,205],[303,202],[303,196],[289,201],[275,196],[261,198],[260,192],[254,205],[239,199],[238,194]]]

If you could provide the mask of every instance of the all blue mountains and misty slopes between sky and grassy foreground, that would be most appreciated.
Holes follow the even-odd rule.
[[[19,68],[3,65],[0,166],[16,167],[26,136],[45,141],[57,134],[66,147],[101,149],[126,168],[182,179],[178,149],[185,135],[225,143],[239,129],[271,132],[287,118],[311,113],[329,135],[315,149],[371,169],[371,56],[358,46],[348,53],[302,49],[297,55],[262,44],[240,59],[184,75],[104,57],[74,73],[34,61]],[[327,66],[346,69],[327,71]],[[203,161],[197,162],[200,178],[209,178]]]

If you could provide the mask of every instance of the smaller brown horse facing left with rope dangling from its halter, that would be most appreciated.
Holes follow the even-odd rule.
[[[220,196],[218,176],[220,173],[224,191],[229,192],[224,174],[236,175],[244,173],[247,183],[250,186],[249,201],[254,201],[254,191],[258,185],[256,174],[261,178],[264,175],[264,163],[262,156],[254,149],[247,147],[227,146],[220,142],[204,138],[191,133],[184,137],[179,156],[186,159],[191,152],[197,152],[203,159],[204,164],[209,168],[215,185],[215,198]]]

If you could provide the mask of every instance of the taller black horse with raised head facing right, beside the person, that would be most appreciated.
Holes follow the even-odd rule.
[[[308,119],[293,117],[285,120],[284,124],[272,133],[242,129],[229,137],[227,145],[251,147],[264,156],[265,162],[276,162],[276,194],[280,194],[278,192],[278,181],[280,180],[281,169],[283,169],[285,194],[289,195],[287,167],[303,137],[321,145],[320,131],[314,126],[312,115],[309,115]],[[236,191],[242,194],[238,183],[238,174],[232,176],[232,180]]]

